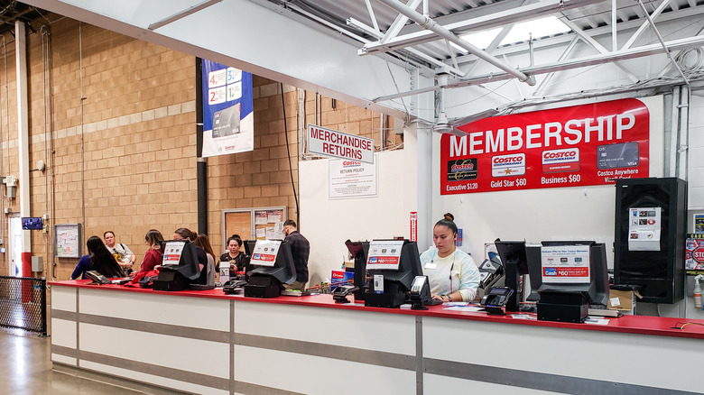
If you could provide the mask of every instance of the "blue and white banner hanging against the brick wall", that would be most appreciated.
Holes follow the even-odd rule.
[[[203,157],[255,149],[252,74],[202,60]]]

